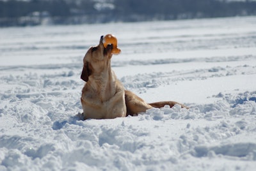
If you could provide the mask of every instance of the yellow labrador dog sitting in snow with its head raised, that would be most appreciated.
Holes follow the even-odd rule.
[[[90,47],[83,59],[81,79],[86,84],[83,87],[81,103],[84,119],[113,119],[145,112],[152,107],[181,105],[175,101],[148,104],[136,94],[125,90],[124,85],[111,70],[113,45],[105,48],[102,41],[103,36],[100,38],[99,45]],[[184,105],[181,106],[184,107]]]

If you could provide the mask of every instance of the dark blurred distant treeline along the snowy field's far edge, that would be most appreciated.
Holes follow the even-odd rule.
[[[133,22],[256,15],[256,1],[31,0],[0,1],[0,26]]]

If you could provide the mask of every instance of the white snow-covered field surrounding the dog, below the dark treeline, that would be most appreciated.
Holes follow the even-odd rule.
[[[82,121],[83,57],[153,108]],[[255,170],[256,17],[0,28],[0,170]]]

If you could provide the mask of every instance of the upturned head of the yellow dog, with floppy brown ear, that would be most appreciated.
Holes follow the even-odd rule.
[[[112,57],[111,50],[113,49],[113,45],[108,45],[105,48],[102,41],[103,36],[100,37],[99,45],[90,47],[84,56],[84,66],[81,79],[85,82],[88,81],[90,75],[100,74],[110,66],[110,59]]]

